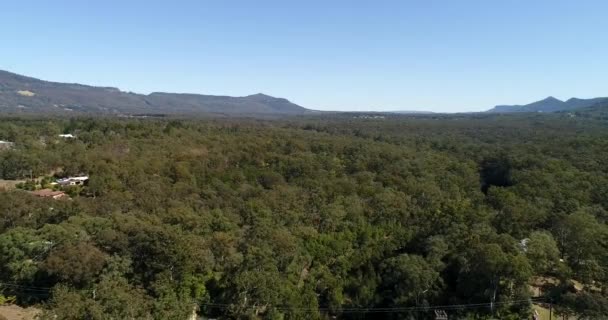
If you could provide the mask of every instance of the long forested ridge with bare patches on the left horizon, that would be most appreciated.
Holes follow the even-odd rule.
[[[111,87],[43,81],[0,70],[0,112],[272,116],[306,114],[309,110],[264,94],[246,97],[142,95]]]

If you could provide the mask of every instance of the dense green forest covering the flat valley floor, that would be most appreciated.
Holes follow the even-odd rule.
[[[0,191],[0,301],[70,320],[608,318],[604,116],[5,117],[0,175],[22,182]]]

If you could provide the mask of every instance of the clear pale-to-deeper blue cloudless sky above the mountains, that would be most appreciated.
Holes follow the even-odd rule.
[[[321,110],[608,96],[608,1],[2,1],[0,69]]]

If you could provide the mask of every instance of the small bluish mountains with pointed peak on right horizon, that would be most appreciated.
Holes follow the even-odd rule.
[[[493,113],[512,113],[512,112],[558,112],[573,111],[589,107],[608,104],[608,98],[578,99],[571,98],[566,101],[548,97],[526,105],[501,105],[496,106],[487,112]]]

